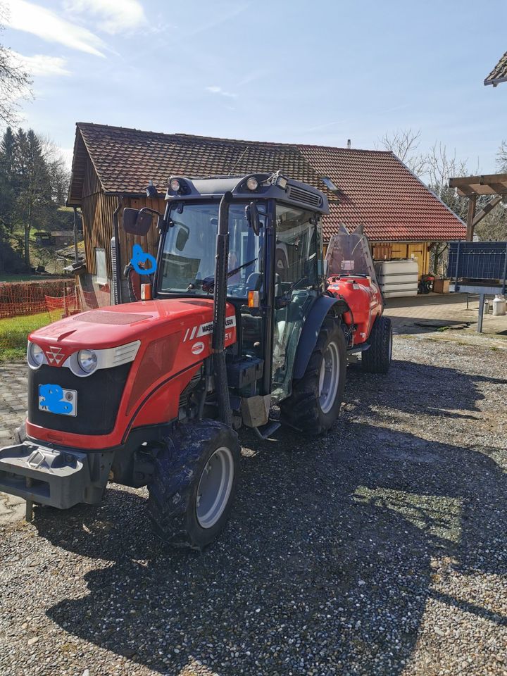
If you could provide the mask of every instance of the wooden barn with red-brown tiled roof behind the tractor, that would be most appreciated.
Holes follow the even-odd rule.
[[[464,239],[465,225],[390,151],[215,139],[77,123],[68,205],[82,210],[85,294],[107,304],[113,280],[111,237],[119,221],[121,266],[135,240],[125,234],[125,206],[164,210],[170,175],[204,176],[276,171],[327,194],[325,240],[340,223],[364,225],[375,258],[415,258],[427,273],[434,242]],[[152,181],[156,199],[147,199]],[[156,223],[142,244],[156,253]]]

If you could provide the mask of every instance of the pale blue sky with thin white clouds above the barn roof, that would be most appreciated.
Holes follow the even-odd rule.
[[[0,0],[1,41],[33,74],[24,126],[69,157],[75,122],[375,148],[421,131],[496,169],[504,0]]]

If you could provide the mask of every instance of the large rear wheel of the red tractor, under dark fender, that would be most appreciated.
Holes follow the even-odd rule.
[[[340,320],[325,318],[303,377],[280,403],[282,422],[304,434],[327,432],[338,418],[346,378],[346,345]]]

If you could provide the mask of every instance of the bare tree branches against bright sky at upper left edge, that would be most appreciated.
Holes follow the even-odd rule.
[[[7,10],[0,2],[0,32],[4,30],[2,21],[6,19]],[[0,44],[0,121],[11,125],[18,121],[20,99],[30,98],[30,76],[16,63],[13,52]]]

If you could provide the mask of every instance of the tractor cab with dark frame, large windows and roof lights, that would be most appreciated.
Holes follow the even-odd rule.
[[[229,372],[239,373],[232,380],[251,381],[242,372],[261,370],[249,382],[251,394],[270,395],[271,403],[287,398],[304,322],[324,292],[320,218],[327,199],[280,173],[265,173],[172,177],[166,201],[153,298],[198,302],[225,293],[237,320],[237,342],[227,350]],[[227,211],[227,253],[220,261],[226,289],[215,279],[220,208]],[[125,209],[130,232],[145,234],[142,220],[143,211]]]

